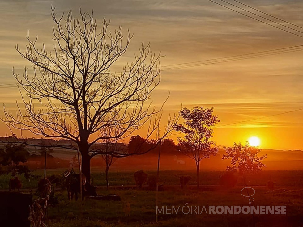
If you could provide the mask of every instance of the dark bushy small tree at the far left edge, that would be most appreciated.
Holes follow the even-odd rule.
[[[0,170],[1,174],[11,174],[16,178],[16,175],[24,174],[25,178],[31,176],[30,170],[24,163],[27,161],[29,152],[23,144],[6,144],[5,150],[0,149]],[[11,180],[9,183],[11,189]]]

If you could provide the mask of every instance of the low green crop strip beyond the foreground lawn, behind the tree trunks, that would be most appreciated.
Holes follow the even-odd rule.
[[[66,169],[47,170],[47,175],[61,174]],[[110,185],[135,185],[134,171],[111,171],[109,172]],[[156,171],[146,171],[148,175],[156,174]],[[34,174],[43,176],[43,170],[36,170]],[[218,185],[219,177],[224,171],[201,171],[200,184],[201,185]],[[164,170],[160,171],[160,181],[164,185],[178,185],[179,177],[182,175],[191,176],[189,184],[196,184],[196,174],[189,170]],[[0,189],[8,189],[9,175],[0,176]],[[20,177],[23,183],[23,188],[36,188],[38,179],[27,180]],[[40,178],[39,178],[40,179]],[[248,174],[249,185],[266,186],[269,180],[276,183],[276,186],[300,186],[303,187],[303,171],[282,171],[282,170],[264,170],[257,174]],[[103,169],[92,169],[92,184],[95,186],[105,186],[105,173]],[[237,185],[243,185],[241,177],[238,178]]]

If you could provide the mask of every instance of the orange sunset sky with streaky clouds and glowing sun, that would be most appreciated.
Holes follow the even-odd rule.
[[[243,1],[267,13],[303,27],[303,2]],[[302,38],[238,15],[208,1],[53,1],[58,14],[94,9],[96,18],[111,20],[111,27],[121,25],[134,33],[120,64],[133,60],[140,43],[150,42],[152,50],[165,57],[161,66],[228,57],[302,44]],[[2,0],[0,2],[0,85],[14,83],[12,67],[22,73],[29,66],[15,51],[15,44],[25,47],[27,30],[38,42],[51,47],[51,1]],[[303,31],[303,29],[302,29]],[[196,66],[161,73],[153,104],[160,106],[170,90],[165,114],[176,113],[181,103],[215,107],[225,125],[270,116],[303,107],[303,51],[252,58],[213,65]],[[116,69],[121,69],[117,65]],[[0,86],[0,104],[15,109],[20,100],[16,87]],[[0,111],[3,116],[3,111]],[[9,131],[0,123],[0,136]],[[250,136],[261,139],[262,148],[303,149],[302,111],[278,115],[215,129],[219,145],[245,142]],[[177,136],[172,136],[176,139]]]

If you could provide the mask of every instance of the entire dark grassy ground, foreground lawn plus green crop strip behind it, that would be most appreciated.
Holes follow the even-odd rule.
[[[58,174],[63,170],[48,170],[47,174]],[[147,171],[149,175],[156,174]],[[43,171],[35,174],[43,175]],[[286,205],[287,214],[159,214],[156,218],[156,192],[148,190],[130,189],[133,186],[134,172],[110,172],[110,189],[106,191],[105,174],[100,169],[92,170],[93,184],[99,186],[98,195],[117,194],[121,201],[97,201],[86,199],[84,201],[69,201],[65,190],[57,190],[59,203],[47,210],[50,227],[59,226],[303,226],[303,171],[262,171],[259,174],[249,175],[249,185],[254,188],[254,201],[249,204],[247,197],[240,194],[243,182],[239,179],[237,186],[226,189],[218,185],[219,176],[223,172],[201,172],[200,190],[194,186],[196,183],[194,171],[161,171],[161,184],[164,190],[158,194],[158,207],[185,205],[218,206],[218,205]],[[190,175],[192,180],[186,189],[181,189],[179,176]],[[1,176],[0,187],[6,189],[8,176]],[[268,191],[266,183],[272,180],[276,183],[275,190]],[[23,181],[23,188],[35,188],[36,180]],[[169,214],[170,213],[170,214]],[[186,212],[185,212],[186,213]]]

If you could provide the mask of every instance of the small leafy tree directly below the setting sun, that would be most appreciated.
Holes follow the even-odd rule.
[[[240,142],[234,143],[232,147],[224,147],[226,154],[223,154],[222,159],[231,158],[232,166],[227,166],[227,171],[238,171],[244,179],[245,187],[246,173],[261,171],[265,167],[261,161],[267,157],[267,154],[258,157],[261,149],[248,145],[242,145]]]

